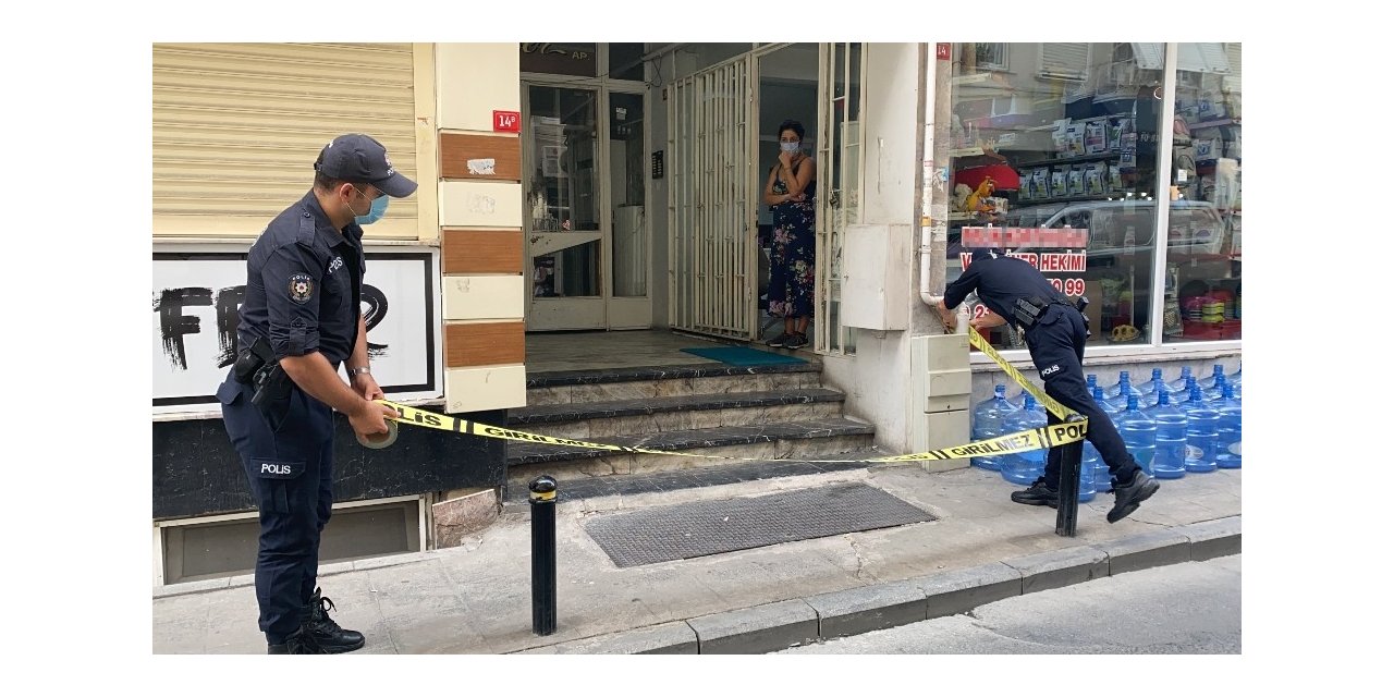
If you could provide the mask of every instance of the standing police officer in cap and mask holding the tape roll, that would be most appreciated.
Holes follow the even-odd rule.
[[[276,216],[247,255],[238,354],[217,389],[261,517],[259,626],[269,654],[340,654],[364,645],[329,619],[319,594],[319,534],[333,503],[333,414],[361,438],[386,434],[396,413],[368,369],[360,309],[362,227],[388,197],[417,184],[378,141],[335,138],[315,160],[314,187]],[[339,378],[346,364],[350,385]]]

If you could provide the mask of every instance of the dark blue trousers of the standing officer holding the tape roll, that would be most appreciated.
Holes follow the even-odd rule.
[[[269,644],[282,644],[315,591],[319,534],[333,506],[333,413],[300,388],[291,388],[289,404],[258,408],[252,388],[231,376],[217,397],[259,512],[259,626]]]

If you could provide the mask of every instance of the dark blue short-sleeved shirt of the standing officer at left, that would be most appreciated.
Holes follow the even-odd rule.
[[[276,216],[247,255],[241,347],[270,342],[276,360],[319,351],[339,367],[358,339],[362,227],[335,229],[314,190]]]

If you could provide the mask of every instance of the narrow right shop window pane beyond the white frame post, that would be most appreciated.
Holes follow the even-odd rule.
[[[1239,339],[1239,45],[1181,43],[1172,123],[1163,340]],[[1186,59],[1186,60],[1181,60]]]

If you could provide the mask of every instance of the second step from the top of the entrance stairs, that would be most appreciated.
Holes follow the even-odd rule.
[[[509,410],[509,428],[580,441],[842,415],[838,390],[790,389],[544,404]]]

